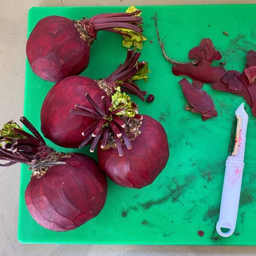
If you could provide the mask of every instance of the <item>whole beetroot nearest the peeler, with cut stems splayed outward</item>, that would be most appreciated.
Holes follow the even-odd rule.
[[[169,158],[167,136],[163,126],[152,117],[139,115],[137,105],[125,93],[117,92],[111,102],[103,98],[99,107],[87,94],[95,117],[96,128],[88,129],[84,146],[94,138],[90,151],[98,143],[99,165],[105,174],[124,187],[141,188],[151,184],[165,167]],[[88,109],[72,113],[90,114]],[[157,153],[156,153],[157,152]]]

